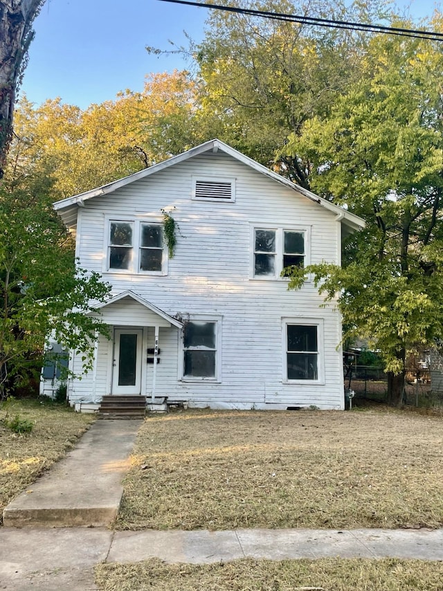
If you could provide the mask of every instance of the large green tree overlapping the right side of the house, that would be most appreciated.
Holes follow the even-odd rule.
[[[440,18],[433,25],[441,30]],[[362,66],[358,87],[306,122],[288,149],[314,164],[314,191],[366,221],[347,242],[343,269],[305,271],[327,300],[338,294],[345,336],[380,350],[398,405],[407,354],[443,336],[443,51],[375,36]],[[303,274],[293,271],[291,287]]]

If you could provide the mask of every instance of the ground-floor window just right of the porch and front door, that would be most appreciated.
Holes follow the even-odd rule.
[[[190,320],[183,327],[183,379],[217,379],[218,322]]]

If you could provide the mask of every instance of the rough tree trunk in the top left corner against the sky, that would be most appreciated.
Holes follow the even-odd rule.
[[[45,0],[0,0],[0,179],[12,136],[15,93],[33,40],[33,21]]]

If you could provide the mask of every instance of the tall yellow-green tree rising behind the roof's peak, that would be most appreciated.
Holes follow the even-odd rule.
[[[242,2],[242,6],[245,3]],[[246,7],[370,22],[384,16],[377,1],[289,0]],[[365,37],[289,21],[214,11],[204,42],[192,47],[199,64],[202,105],[218,118],[221,139],[305,188],[311,163],[285,150],[289,134],[324,118],[336,99],[360,80]]]

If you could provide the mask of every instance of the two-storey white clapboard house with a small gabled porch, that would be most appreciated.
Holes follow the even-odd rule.
[[[111,339],[71,404],[103,396],[213,408],[343,409],[341,318],[313,282],[288,291],[291,264],[340,264],[363,221],[240,154],[204,143],[55,209],[80,266],[102,273]],[[168,255],[164,214],[176,223]],[[158,361],[159,363],[155,363]],[[80,356],[71,370],[81,373]],[[91,407],[92,403],[92,407]]]

